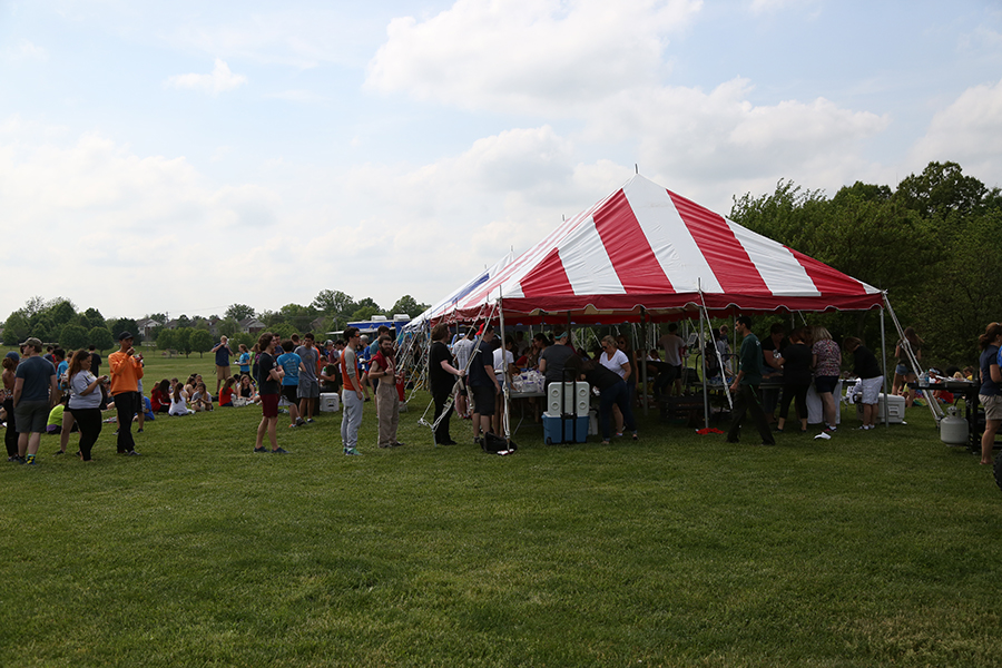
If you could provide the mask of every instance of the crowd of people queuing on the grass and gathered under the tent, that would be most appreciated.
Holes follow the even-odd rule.
[[[727,379],[733,393],[728,442],[738,442],[746,416],[750,416],[763,444],[775,443],[774,434],[790,431],[792,425],[794,431],[807,432],[807,395],[812,385],[821,400],[824,421],[818,438],[831,438],[838,429],[836,387],[843,375],[843,350],[853,358],[851,375],[858,379],[858,429],[874,429],[884,379],[876,355],[863,341],[848,336],[839,346],[825,327],[798,327],[787,334],[782,323],[773,324],[769,335],[759,341],[748,316],[736,318],[735,333],[740,336],[737,354],[730,353],[726,326],[714,333],[703,351],[707,374]],[[658,347],[647,351],[642,360],[631,348],[628,336],[605,336],[589,353],[576,348],[570,332],[559,326],[550,334],[540,332],[527,337],[519,331],[501,341],[490,324],[455,335],[440,324],[432,330],[431,340],[428,380],[435,410],[433,435],[435,443],[445,445],[456,443],[450,433],[453,412],[472,421],[475,442],[482,442],[488,434],[502,434],[502,389],[525,370],[541,374],[546,386],[587,381],[599,397],[602,442],[609,443],[613,434],[621,436],[625,432],[638,439],[633,409],[639,402],[641,365],[646,365],[656,401],[682,394],[684,374],[691,371],[686,361],[687,343],[674,323],[658,340]],[[283,454],[287,451],[277,443],[279,402],[284,399],[287,405],[289,428],[298,429],[314,422],[322,391],[341,396],[345,455],[360,454],[358,428],[366,402],[375,404],[377,445],[403,445],[396,436],[404,373],[389,327],[381,327],[372,342],[357,328],[348,327],[343,340],[328,340],[322,346],[316,345],[312,333],[302,340],[293,335],[282,341],[265,332],[253,348],[240,345],[234,351],[223,336],[212,350],[215,395],[199,374],[193,374],[185,382],[163,379],[146,397],[145,363],[132,343],[128,332],[119,335],[119,348],[108,355],[110,369],[105,375],[100,374],[101,357],[92,346],[69,354],[55,347],[42,355],[41,342],[29,338],[21,345],[20,355],[8,353],[2,361],[0,407],[0,419],[7,422],[8,460],[36,465],[40,436],[48,432],[60,434],[57,454],[67,452],[70,433],[79,433],[78,455],[85,462],[92,461],[92,448],[105,422],[102,411],[116,413],[112,421],[117,422],[118,453],[135,456],[138,452],[131,432],[134,421],[141,432],[144,420],[158,414],[183,416],[245,405],[262,407],[253,451]],[[895,346],[894,393],[906,396],[908,405],[915,401],[915,393],[908,387],[916,379],[923,343],[908,327]],[[990,463],[995,434],[1002,428],[1002,324],[989,325],[980,346],[981,403],[986,418],[982,463]],[[760,387],[766,379],[778,383]]]

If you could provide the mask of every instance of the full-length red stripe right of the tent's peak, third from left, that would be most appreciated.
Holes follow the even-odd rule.
[[[671,190],[668,195],[725,293],[772,294],[724,216]]]

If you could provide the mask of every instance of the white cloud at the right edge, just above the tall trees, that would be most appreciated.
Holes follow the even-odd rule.
[[[1002,183],[1002,81],[966,89],[937,111],[912,151],[912,164],[953,160],[986,183]]]

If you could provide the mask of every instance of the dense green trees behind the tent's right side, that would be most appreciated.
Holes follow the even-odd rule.
[[[735,198],[730,219],[887,291],[902,327],[925,341],[923,366],[978,360],[978,335],[1002,320],[1002,194],[956,163],[930,163],[896,189],[856,181],[828,198],[790,180]],[[878,350],[873,313],[814,317]],[[897,341],[890,318],[888,345]]]

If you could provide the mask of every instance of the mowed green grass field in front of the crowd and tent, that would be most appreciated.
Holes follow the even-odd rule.
[[[210,370],[150,356],[147,384]],[[530,426],[499,458],[458,421],[433,448],[425,404],[394,450],[366,404],[361,458],[340,414],[253,454],[256,407],[159,418],[139,458],[106,425],[92,465],[46,438],[0,466],[0,665],[1002,662],[1002,493],[924,409],[775,448]]]

